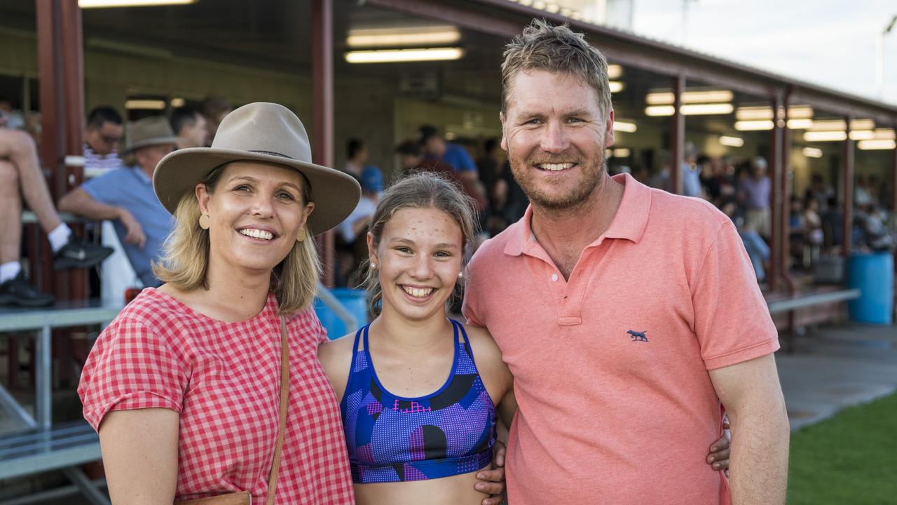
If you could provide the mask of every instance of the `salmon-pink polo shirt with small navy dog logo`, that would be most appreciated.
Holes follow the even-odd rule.
[[[708,370],[779,349],[731,221],[628,174],[565,281],[529,226],[483,244],[464,314],[514,374],[509,501],[729,503],[705,463],[722,407]]]

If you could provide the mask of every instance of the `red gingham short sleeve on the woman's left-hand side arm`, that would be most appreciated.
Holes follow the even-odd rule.
[[[189,371],[152,327],[119,318],[100,333],[84,364],[78,394],[94,430],[109,411],[163,408],[181,412]]]

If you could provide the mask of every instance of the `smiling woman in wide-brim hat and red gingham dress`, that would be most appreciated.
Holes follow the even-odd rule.
[[[177,218],[165,284],[100,334],[79,386],[112,501],[352,503],[311,237],[352,212],[358,183],[311,163],[291,111],[251,103],[153,185]]]

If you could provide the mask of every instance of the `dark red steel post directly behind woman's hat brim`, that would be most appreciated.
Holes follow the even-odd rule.
[[[314,128],[311,144],[315,163],[334,163],[334,28],[333,0],[314,0],[311,4],[311,68]],[[334,284],[334,235],[327,232],[318,238],[323,260],[326,286]]]

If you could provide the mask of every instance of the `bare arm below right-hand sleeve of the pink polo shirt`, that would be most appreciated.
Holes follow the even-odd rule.
[[[733,505],[782,505],[788,484],[788,412],[772,354],[710,370],[732,426]]]

